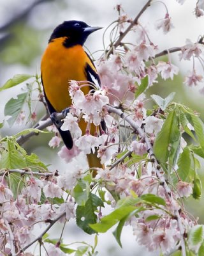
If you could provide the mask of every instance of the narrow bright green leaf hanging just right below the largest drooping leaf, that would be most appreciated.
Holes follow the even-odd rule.
[[[184,148],[182,154],[179,156],[178,160],[178,174],[180,179],[185,181],[189,177],[191,170],[191,152],[188,147]]]

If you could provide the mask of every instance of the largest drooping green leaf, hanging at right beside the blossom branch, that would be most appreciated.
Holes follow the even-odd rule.
[[[173,161],[179,147],[179,141],[179,122],[175,110],[173,110],[166,118],[154,142],[154,154],[161,164],[166,164],[170,156]]]

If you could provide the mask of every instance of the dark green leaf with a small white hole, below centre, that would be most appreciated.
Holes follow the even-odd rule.
[[[89,198],[87,202],[85,202],[85,205],[77,206],[77,225],[87,234],[96,233],[94,230],[92,230],[91,225],[89,224],[96,223],[97,216],[94,212],[99,206],[103,207],[101,198],[92,193],[89,193]]]

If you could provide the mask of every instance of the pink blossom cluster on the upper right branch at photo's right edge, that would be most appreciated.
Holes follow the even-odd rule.
[[[190,60],[191,57],[199,57],[203,51],[203,45],[199,43],[193,43],[191,40],[186,40],[186,45],[182,47],[181,52],[179,53],[180,60]]]

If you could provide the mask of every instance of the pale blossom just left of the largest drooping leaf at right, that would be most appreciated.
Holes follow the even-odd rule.
[[[154,133],[155,135],[161,130],[164,123],[162,119],[156,118],[155,116],[147,116],[145,119],[145,131],[149,134]]]

